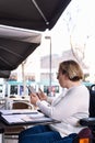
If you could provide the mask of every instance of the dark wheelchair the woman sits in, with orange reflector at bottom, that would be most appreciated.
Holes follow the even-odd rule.
[[[95,84],[90,87],[90,117],[81,119],[80,124],[87,128],[76,135],[73,143],[95,143]]]

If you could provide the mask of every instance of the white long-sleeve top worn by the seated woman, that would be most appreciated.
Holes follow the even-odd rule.
[[[46,116],[61,121],[50,124],[50,128],[66,136],[83,129],[79,120],[88,117],[90,92],[84,85],[74,86],[56,98],[51,105],[37,101],[37,106]]]

